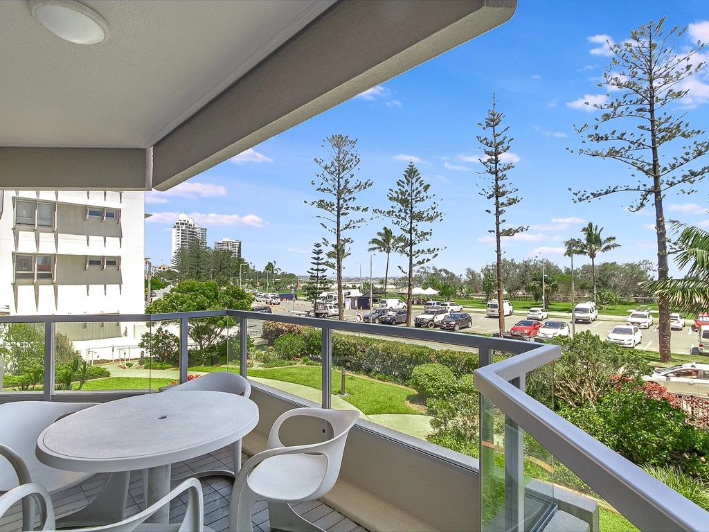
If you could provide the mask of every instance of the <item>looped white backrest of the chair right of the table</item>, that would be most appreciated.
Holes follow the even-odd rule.
[[[313,494],[313,499],[318,499],[324,494],[333,489],[337,477],[340,475],[340,465],[342,464],[342,455],[345,453],[345,443],[347,435],[350,433],[350,428],[357,423],[359,419],[359,411],[357,410],[331,410],[331,409],[315,409],[315,408],[297,408],[292,409],[284,414],[281,414],[273,424],[268,437],[267,449],[285,448],[279,438],[281,425],[286,421],[296,416],[308,416],[317,419],[323,419],[330,423],[333,428],[333,437],[322,443],[308,445],[308,449],[303,452],[308,454],[322,454],[328,458],[328,470],[325,472],[323,482]]]

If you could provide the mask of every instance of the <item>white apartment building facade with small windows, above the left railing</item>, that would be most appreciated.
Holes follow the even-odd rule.
[[[144,220],[144,192],[0,192],[0,312],[142,312]]]

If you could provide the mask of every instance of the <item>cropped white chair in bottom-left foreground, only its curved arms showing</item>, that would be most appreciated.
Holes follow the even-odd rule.
[[[179,494],[186,491],[189,499],[187,500],[187,511],[184,514],[182,523],[164,524],[164,523],[145,523],[145,521],[155,514],[162,506],[169,504],[172,499],[175,499]],[[39,506],[41,530],[55,530],[55,516],[52,507],[52,499],[50,494],[40,484],[30,483],[23,484],[19,487],[11,489],[9,492],[0,497],[0,517],[21,499],[33,497]],[[23,530],[27,530],[23,528]],[[104,526],[92,526],[90,528],[75,528],[75,532],[131,532],[131,531],[174,531],[174,532],[201,532],[212,531],[211,528],[204,526],[203,514],[203,498],[202,487],[199,480],[191,478],[185,480],[175,489],[172,489],[167,495],[162,497],[149,508],[141,511],[139,514],[123,519],[118,523],[113,523]],[[69,532],[69,531],[64,531]]]

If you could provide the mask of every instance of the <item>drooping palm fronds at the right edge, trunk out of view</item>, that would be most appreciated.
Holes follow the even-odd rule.
[[[709,311],[709,233],[703,229],[674,223],[674,231],[680,228],[682,232],[676,241],[676,265],[683,269],[688,267],[683,279],[659,279],[644,282],[644,289],[655,292],[658,299],[664,300],[668,306],[682,309],[686,312]]]

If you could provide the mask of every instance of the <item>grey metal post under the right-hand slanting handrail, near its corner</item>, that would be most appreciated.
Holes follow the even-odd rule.
[[[510,381],[524,391],[525,377]],[[505,529],[523,532],[525,529],[525,436],[522,428],[505,414]]]

